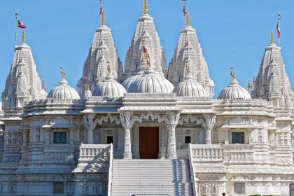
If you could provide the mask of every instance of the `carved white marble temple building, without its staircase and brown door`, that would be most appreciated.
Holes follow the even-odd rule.
[[[190,160],[194,195],[289,195],[294,95],[273,42],[253,90],[232,77],[214,99],[190,19],[167,70],[145,9],[125,73],[102,23],[77,87],[62,76],[47,95],[31,49],[15,46],[0,110],[0,195],[109,195],[111,158],[140,158],[140,127],[158,127],[158,159]]]

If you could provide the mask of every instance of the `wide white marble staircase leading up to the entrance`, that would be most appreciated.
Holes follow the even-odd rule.
[[[193,195],[188,160],[113,160],[111,196]]]

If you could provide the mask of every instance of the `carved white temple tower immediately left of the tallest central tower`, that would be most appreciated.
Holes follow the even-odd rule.
[[[123,64],[120,62],[116,46],[113,42],[111,29],[106,26],[105,12],[101,13],[100,27],[96,29],[89,55],[83,67],[83,76],[78,80],[78,93],[85,96],[87,86],[93,92],[97,83],[102,82],[106,75],[106,66],[111,64],[113,77],[118,82],[123,82]]]

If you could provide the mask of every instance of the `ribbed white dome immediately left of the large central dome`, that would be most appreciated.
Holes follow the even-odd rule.
[[[103,82],[98,83],[94,88],[93,96],[124,97],[125,93],[123,85],[114,80],[113,76],[108,75]]]

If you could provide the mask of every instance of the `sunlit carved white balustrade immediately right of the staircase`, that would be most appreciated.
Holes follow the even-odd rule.
[[[194,162],[221,162],[221,145],[193,144],[190,147]]]

